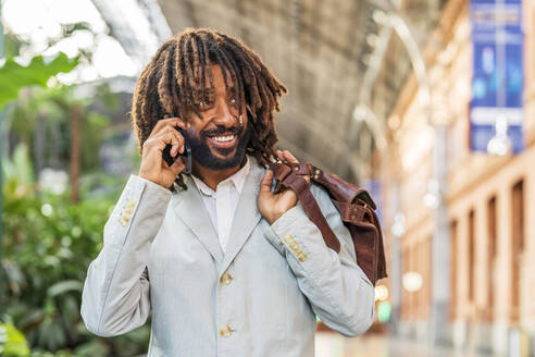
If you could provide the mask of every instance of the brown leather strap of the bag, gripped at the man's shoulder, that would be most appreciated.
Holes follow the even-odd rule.
[[[297,168],[297,167],[296,167]],[[272,163],[271,169],[273,170],[274,176],[278,180],[278,185],[286,188],[290,188],[297,194],[299,201],[307,213],[307,217],[314,223],[320,232],[322,233],[323,241],[331,249],[336,253],[340,251],[340,243],[338,238],[331,230],[325,217],[323,216],[320,206],[314,196],[310,192],[309,183],[299,174],[293,172],[290,167],[284,163]]]

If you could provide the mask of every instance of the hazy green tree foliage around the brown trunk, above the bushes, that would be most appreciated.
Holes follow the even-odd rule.
[[[117,106],[117,96],[110,91],[107,84],[97,86],[95,91],[99,95],[94,98],[79,98],[75,86],[58,85],[24,90],[5,110],[10,135],[32,148],[33,162],[55,169],[66,168],[71,158],[73,107],[78,106],[82,109],[82,172],[98,170],[100,162],[96,153],[110,120],[91,110],[92,99],[102,103],[104,109],[113,109]],[[103,94],[107,99],[103,99]],[[37,143],[41,143],[42,147],[37,147]]]

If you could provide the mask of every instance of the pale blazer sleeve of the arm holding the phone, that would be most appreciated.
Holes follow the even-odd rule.
[[[104,225],[103,248],[87,271],[80,312],[90,332],[114,336],[147,321],[150,244],[163,222],[171,195],[158,184],[129,176]]]

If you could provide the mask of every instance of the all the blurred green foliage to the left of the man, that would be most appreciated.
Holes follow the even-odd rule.
[[[62,29],[49,46],[88,26],[78,23]],[[4,45],[7,57],[29,47],[27,39],[14,35],[8,35]],[[0,138],[0,273],[7,284],[0,295],[0,319],[8,322],[0,329],[1,356],[28,356],[26,341],[33,357],[135,356],[147,350],[150,323],[123,336],[101,338],[87,331],[79,315],[87,268],[100,251],[103,225],[125,181],[102,173],[98,155],[110,125],[101,112],[119,107],[116,96],[105,84],[64,86],[53,77],[73,70],[78,60],[89,61],[90,52],[80,49],[74,60],[63,53],[51,61],[36,56],[27,66],[8,59],[0,67],[0,109],[17,97],[3,108]],[[55,195],[37,184],[43,168],[61,172],[69,168],[75,107],[82,113],[82,201],[76,205],[69,190]],[[12,355],[7,355],[8,347]]]

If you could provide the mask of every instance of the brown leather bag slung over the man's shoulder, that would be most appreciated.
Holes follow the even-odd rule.
[[[320,229],[327,247],[339,253],[340,243],[328,226],[303,176],[307,175],[311,181],[323,186],[351,234],[359,267],[373,285],[377,280],[387,276],[383,233],[375,214],[376,207],[364,188],[309,163],[276,162],[271,164],[271,170],[278,181],[275,192],[278,193],[284,188],[293,189],[309,219]]]

